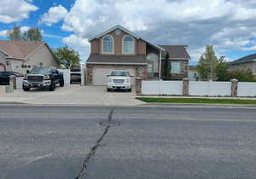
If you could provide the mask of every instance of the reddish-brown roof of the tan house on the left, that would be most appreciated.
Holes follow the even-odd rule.
[[[0,50],[3,51],[7,58],[26,59],[36,49],[46,44],[44,41],[6,41],[0,40]]]

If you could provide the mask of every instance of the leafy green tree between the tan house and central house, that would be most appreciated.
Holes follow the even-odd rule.
[[[78,69],[80,67],[79,53],[74,49],[69,49],[67,45],[55,49],[55,56],[56,61],[67,69]]]

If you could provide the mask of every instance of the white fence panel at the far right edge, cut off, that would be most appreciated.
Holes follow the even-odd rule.
[[[256,83],[253,82],[238,82],[238,96],[256,96]]]

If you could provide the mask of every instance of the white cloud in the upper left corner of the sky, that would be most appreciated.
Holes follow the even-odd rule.
[[[29,14],[38,10],[38,7],[25,0],[0,1],[0,22],[11,23],[28,19]]]

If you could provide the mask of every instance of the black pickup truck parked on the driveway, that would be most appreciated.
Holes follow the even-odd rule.
[[[31,88],[47,88],[50,91],[55,90],[55,84],[64,86],[63,73],[55,67],[34,67],[31,72],[27,72],[23,81],[23,90],[28,91]]]

